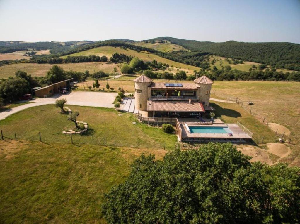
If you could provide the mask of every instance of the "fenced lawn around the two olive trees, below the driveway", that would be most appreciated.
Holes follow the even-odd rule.
[[[104,138],[108,146],[174,149],[177,142],[175,134],[166,134],[161,128],[148,127],[146,124],[132,124],[136,121],[133,114],[124,113],[122,116],[114,109],[84,106],[68,106],[72,111],[78,111],[78,121],[88,123],[88,135],[73,135],[75,144],[104,145]],[[59,113],[53,104],[36,106],[15,113],[0,121],[4,136],[14,139],[39,141],[66,142],[71,141],[70,135],[62,134],[67,121],[67,115]]]

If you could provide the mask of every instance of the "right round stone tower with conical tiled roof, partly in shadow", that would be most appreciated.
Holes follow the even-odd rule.
[[[211,91],[211,81],[205,75],[194,80],[197,86],[197,96],[199,97],[199,102],[203,104],[203,106],[209,105],[210,91]]]

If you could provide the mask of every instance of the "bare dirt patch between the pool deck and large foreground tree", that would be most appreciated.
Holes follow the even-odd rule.
[[[261,161],[263,163],[272,165],[273,162],[269,158],[267,150],[261,149],[256,146],[238,146],[238,150],[240,150],[244,155],[251,156],[250,162]]]

